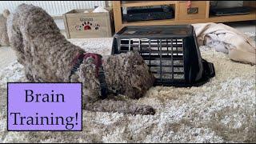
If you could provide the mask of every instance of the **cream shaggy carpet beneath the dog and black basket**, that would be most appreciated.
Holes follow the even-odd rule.
[[[87,51],[110,54],[111,38],[72,39]],[[83,111],[82,132],[6,131],[6,82],[25,82],[14,62],[0,70],[0,142],[256,142],[255,68],[201,46],[216,76],[200,87],[152,87],[138,101],[156,114]]]

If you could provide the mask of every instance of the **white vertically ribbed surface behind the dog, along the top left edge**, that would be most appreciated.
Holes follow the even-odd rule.
[[[8,9],[14,12],[15,8],[22,4],[40,6],[53,16],[58,16],[72,9],[91,9],[94,6],[106,7],[106,1],[0,1],[0,14]]]

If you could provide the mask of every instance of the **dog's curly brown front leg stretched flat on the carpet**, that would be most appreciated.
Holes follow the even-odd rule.
[[[155,114],[155,110],[151,106],[136,105],[126,101],[114,101],[112,99],[104,99],[97,102],[85,102],[84,110],[102,111],[102,112],[118,112],[123,114]]]

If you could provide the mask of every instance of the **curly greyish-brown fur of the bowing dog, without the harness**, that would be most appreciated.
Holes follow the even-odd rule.
[[[72,61],[81,52],[60,33],[53,18],[38,6],[22,4],[7,20],[10,45],[25,67],[32,82],[82,82],[85,110],[154,114],[151,106],[100,98],[93,58],[86,58],[70,78]],[[110,91],[129,98],[141,98],[153,86],[154,76],[138,53],[110,55],[103,58],[106,84]]]

